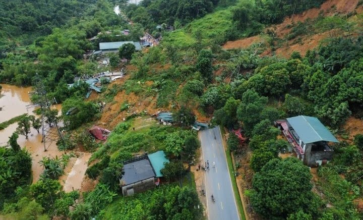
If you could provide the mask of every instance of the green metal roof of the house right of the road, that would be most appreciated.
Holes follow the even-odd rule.
[[[305,144],[317,141],[339,142],[319,119],[315,117],[296,116],[287,118],[287,122]]]

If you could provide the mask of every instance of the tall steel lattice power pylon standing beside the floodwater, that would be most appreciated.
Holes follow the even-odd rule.
[[[55,98],[48,98],[47,93],[45,91],[45,87],[43,82],[40,79],[40,76],[38,73],[36,73],[36,84],[34,86],[35,90],[33,92],[29,93],[29,96],[31,97],[31,104],[28,104],[26,106],[27,109],[33,108],[33,107],[40,107],[40,113],[41,113],[41,124],[42,124],[42,143],[44,145],[44,151],[47,151],[49,146],[53,141],[57,142],[58,140],[62,140],[64,143],[64,138],[61,133],[61,130],[59,130],[57,120],[54,120],[54,122],[47,122],[47,117],[45,114],[47,112],[50,112],[50,106],[52,104],[57,104]]]

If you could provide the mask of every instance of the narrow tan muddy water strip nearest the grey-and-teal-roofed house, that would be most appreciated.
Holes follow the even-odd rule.
[[[87,162],[91,157],[92,153],[82,153],[80,157],[77,158],[73,165],[71,172],[68,175],[64,175],[60,180],[63,185],[63,190],[65,192],[71,192],[72,190],[80,190],[82,185],[82,180],[85,176],[87,170]],[[66,181],[64,181],[66,179]],[[64,182],[64,184],[63,184]]]

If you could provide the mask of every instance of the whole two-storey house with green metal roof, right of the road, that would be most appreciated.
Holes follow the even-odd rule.
[[[333,158],[331,143],[339,141],[319,121],[310,116],[296,116],[276,121],[296,155],[309,167],[325,164]]]

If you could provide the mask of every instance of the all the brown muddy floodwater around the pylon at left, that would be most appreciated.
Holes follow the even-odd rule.
[[[0,84],[3,88],[0,95],[0,122],[8,121],[16,116],[22,114],[34,115],[34,108],[26,108],[26,105],[30,104],[30,99],[28,93],[32,91],[31,87],[17,87],[12,85]],[[61,104],[52,105],[52,108],[58,109],[58,114],[61,115]],[[62,125],[62,123],[59,123]],[[17,123],[9,125],[7,128],[0,130],[0,146],[8,145],[9,137],[15,132],[18,127]],[[28,139],[25,136],[19,135],[18,144],[26,148],[32,157],[32,173],[33,173],[33,183],[39,180],[40,175],[43,173],[43,168],[40,166],[39,161],[43,157],[55,157],[62,156],[63,151],[58,151],[55,142],[47,145],[47,151],[44,151],[44,144],[41,142],[42,135],[31,128],[30,135]],[[87,169],[88,159],[91,157],[91,153],[81,152],[76,153],[77,158],[72,158],[69,162],[68,169],[65,170],[65,175],[63,175],[59,182],[64,186],[64,189],[69,192],[72,189],[80,189],[82,179],[85,175]]]

